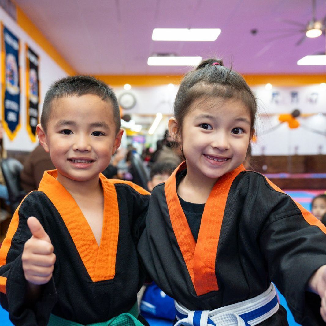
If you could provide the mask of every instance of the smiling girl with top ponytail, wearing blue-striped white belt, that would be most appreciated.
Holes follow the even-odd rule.
[[[326,228],[242,165],[256,111],[244,79],[220,60],[181,82],[169,130],[185,162],[154,188],[138,246],[176,300],[175,325],[287,325],[271,281],[299,323],[326,320]]]

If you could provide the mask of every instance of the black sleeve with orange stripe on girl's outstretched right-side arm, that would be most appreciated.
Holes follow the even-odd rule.
[[[306,292],[312,274],[326,264],[326,234],[314,217],[288,195],[268,185],[268,218],[259,237],[272,281],[287,299],[295,320],[323,325],[320,298]],[[263,213],[265,208],[260,211]]]

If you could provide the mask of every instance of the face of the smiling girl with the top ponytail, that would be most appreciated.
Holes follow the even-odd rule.
[[[215,183],[243,163],[250,138],[251,118],[241,101],[216,97],[194,101],[180,139],[187,176],[197,183]]]

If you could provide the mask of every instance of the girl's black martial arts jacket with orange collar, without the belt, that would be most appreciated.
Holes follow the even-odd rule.
[[[185,164],[154,188],[138,244],[157,285],[189,310],[214,310],[251,299],[273,281],[299,323],[323,325],[319,296],[305,290],[326,264],[326,228],[263,175],[241,165],[214,185],[196,242],[196,226],[189,227],[191,216],[185,216],[176,192],[183,169]],[[285,309],[259,325],[287,325]]]

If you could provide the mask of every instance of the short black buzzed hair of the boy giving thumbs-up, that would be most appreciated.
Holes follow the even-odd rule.
[[[51,117],[51,106],[55,99],[67,96],[96,95],[101,100],[112,104],[113,120],[116,133],[121,128],[121,118],[118,100],[106,83],[91,76],[69,76],[54,82],[47,91],[41,114],[41,126],[47,131],[48,122]]]

